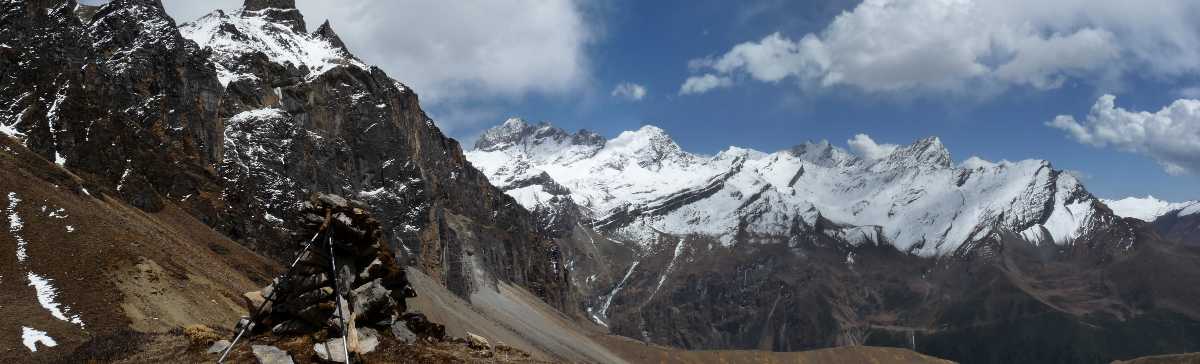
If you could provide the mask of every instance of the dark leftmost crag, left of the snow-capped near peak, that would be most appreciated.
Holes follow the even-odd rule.
[[[155,211],[164,198],[218,220],[222,86],[161,4],[4,1],[0,103],[8,133],[86,177],[97,192]]]

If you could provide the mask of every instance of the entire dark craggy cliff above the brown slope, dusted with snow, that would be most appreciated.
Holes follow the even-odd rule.
[[[329,44],[329,56],[293,58],[329,62],[198,47],[160,1],[115,0],[90,18],[72,0],[0,1],[6,130],[92,193],[149,211],[181,205],[260,253],[290,256],[295,201],[338,193],[370,204],[402,262],[460,294],[505,280],[575,309],[557,245],[466,162],[415,93],[359,62],[328,24],[305,32],[294,1],[245,6],[210,16],[221,22],[211,35],[245,40],[254,29],[234,24],[251,19],[266,24],[256,36]]]

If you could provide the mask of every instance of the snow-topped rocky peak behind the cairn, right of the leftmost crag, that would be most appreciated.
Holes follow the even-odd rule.
[[[401,259],[462,297],[505,280],[575,310],[558,247],[467,163],[413,90],[354,58],[328,23],[314,34],[276,26],[286,19],[254,10],[290,2],[259,2],[181,26],[228,82],[217,172],[230,235],[284,256],[274,241],[298,229],[290,203],[338,193],[368,205]]]

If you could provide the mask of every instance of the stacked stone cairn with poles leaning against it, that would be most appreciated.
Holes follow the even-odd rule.
[[[263,308],[253,317],[252,332],[269,329],[278,336],[336,336],[337,350],[328,345],[320,347],[323,344],[314,348],[318,354],[325,353],[324,359],[335,357],[336,362],[342,362],[336,358],[342,354],[341,338],[349,341],[349,352],[372,351],[378,341],[374,328],[391,328],[395,333],[395,324],[403,324],[410,316],[404,315],[404,299],[416,297],[403,267],[382,238],[379,222],[361,202],[336,195],[311,196],[301,204],[299,216],[304,227],[301,247],[310,241],[311,247],[298,258],[286,279],[277,278],[262,291],[245,294],[251,312]],[[331,279],[330,244],[337,264],[336,282]],[[335,286],[340,291],[336,300]],[[340,318],[344,318],[346,335]]]

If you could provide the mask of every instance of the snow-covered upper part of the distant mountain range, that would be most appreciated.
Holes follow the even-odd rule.
[[[703,156],[654,126],[602,143],[572,139],[514,119],[485,133],[467,157],[532,210],[566,193],[598,227],[641,243],[658,233],[736,244],[821,229],[851,244],[934,256],[1000,231],[1069,244],[1111,219],[1046,161],[973,157],[955,166],[936,137],[870,160],[828,142]],[[554,189],[540,183],[547,177]]]

